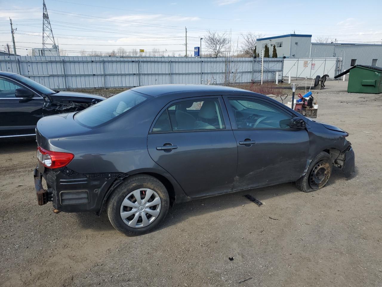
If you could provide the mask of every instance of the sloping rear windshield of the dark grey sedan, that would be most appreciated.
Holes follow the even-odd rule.
[[[126,113],[147,98],[149,96],[127,90],[76,113],[74,119],[87,127],[100,126]]]

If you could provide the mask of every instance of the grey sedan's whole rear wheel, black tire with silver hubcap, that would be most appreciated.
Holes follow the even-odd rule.
[[[153,176],[130,176],[111,195],[107,215],[113,227],[128,236],[153,230],[166,216],[170,199]]]

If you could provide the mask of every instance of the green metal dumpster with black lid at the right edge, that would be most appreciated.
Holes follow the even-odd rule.
[[[349,75],[348,93],[382,93],[382,68],[367,65],[355,65],[335,76]]]

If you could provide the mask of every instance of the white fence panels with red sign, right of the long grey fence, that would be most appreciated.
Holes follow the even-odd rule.
[[[333,78],[338,74],[341,58],[306,58],[284,59],[283,76],[291,73],[293,78],[316,78],[316,76],[329,75]]]

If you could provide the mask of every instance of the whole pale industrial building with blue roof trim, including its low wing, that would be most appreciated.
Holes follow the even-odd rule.
[[[330,58],[342,59],[342,69],[354,65],[382,66],[382,44],[312,43],[312,35],[288,34],[257,39],[257,49],[269,47],[272,56],[276,45],[278,57],[286,58]],[[259,52],[261,54],[261,52]]]

